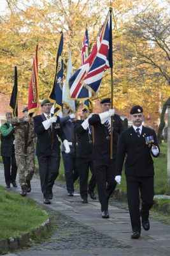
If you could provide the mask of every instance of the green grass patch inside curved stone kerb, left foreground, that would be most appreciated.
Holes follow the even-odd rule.
[[[48,215],[31,198],[8,192],[0,186],[0,239],[31,232]]]

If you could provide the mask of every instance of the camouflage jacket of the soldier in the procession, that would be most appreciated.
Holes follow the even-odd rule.
[[[11,124],[15,129],[15,154],[26,156],[34,154],[34,138],[36,134],[33,128],[33,118],[29,122],[25,122],[24,118],[12,118]]]

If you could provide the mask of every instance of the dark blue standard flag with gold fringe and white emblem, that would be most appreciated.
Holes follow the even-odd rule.
[[[62,84],[63,84],[63,60],[62,60],[62,49],[63,49],[63,33],[60,32],[59,44],[57,49],[55,77],[53,81],[53,87],[48,96],[50,102],[55,103],[54,115],[59,114],[62,111]]]

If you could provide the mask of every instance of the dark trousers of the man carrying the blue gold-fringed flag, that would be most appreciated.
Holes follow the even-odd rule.
[[[59,175],[60,154],[52,151],[50,156],[38,156],[41,191],[44,195],[52,193],[53,184]]]

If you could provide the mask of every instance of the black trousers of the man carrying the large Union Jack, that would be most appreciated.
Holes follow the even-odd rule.
[[[101,211],[108,211],[108,201],[117,186],[115,181],[115,164],[115,160],[113,160],[113,163],[106,164],[102,160],[94,159],[94,171]]]

